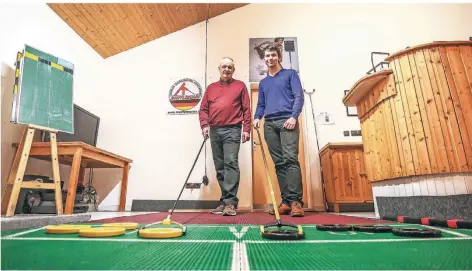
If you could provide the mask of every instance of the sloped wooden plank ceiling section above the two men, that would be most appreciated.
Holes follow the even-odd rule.
[[[107,58],[247,4],[48,5],[99,55]]]

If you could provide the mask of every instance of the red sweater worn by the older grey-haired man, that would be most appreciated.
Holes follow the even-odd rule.
[[[243,132],[251,130],[251,105],[246,85],[233,79],[208,86],[199,111],[200,127],[222,127],[242,124]]]

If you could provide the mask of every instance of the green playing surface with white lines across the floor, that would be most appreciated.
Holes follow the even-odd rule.
[[[93,225],[99,226],[99,225]],[[326,232],[305,225],[305,239],[263,239],[257,225],[186,225],[171,239],[125,235],[85,238],[43,228],[2,232],[2,270],[470,270],[472,230],[439,238]],[[394,227],[423,228],[395,224]]]

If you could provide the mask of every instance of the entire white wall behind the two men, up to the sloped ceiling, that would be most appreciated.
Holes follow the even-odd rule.
[[[31,14],[25,28],[37,26],[37,38],[29,37],[30,31],[23,29],[21,35],[16,35],[15,43],[7,43],[6,56],[13,57],[26,39],[33,46],[74,62],[80,78],[75,100],[102,118],[99,147],[134,160],[127,206],[133,199],[175,199],[201,136],[197,115],[166,115],[172,110],[167,95],[172,83],[183,77],[193,77],[204,84],[205,24],[102,60],[52,11],[36,10],[37,15]],[[304,87],[309,91],[316,88],[315,110],[331,113],[336,122],[318,127],[320,145],[361,141],[359,137],[342,134],[344,130],[360,129],[360,125],[356,117],[346,117],[341,100],[344,90],[371,68],[370,53],[394,53],[406,46],[435,40],[468,39],[472,36],[470,14],[470,4],[251,4],[210,20],[208,81],[217,80],[219,59],[231,56],[236,62],[235,77],[248,83],[251,37],[297,37]],[[13,20],[13,15],[9,16]],[[46,21],[40,22],[39,18]],[[275,20],[269,21],[271,18]],[[40,37],[51,27],[64,33],[59,43],[59,37],[53,35],[57,44]],[[2,47],[2,58],[3,55]],[[89,63],[95,66],[88,67]],[[87,70],[79,73],[85,66]],[[314,181],[312,189],[319,191],[318,151],[307,96],[303,114],[309,135],[307,166]],[[185,191],[181,199],[219,198],[209,146],[207,161],[212,185],[201,191],[204,196]],[[240,161],[241,181],[247,182],[251,178],[251,148],[247,143],[241,148]],[[190,181],[200,181],[203,173],[203,159],[200,159]],[[249,194],[249,191],[240,193],[242,197]],[[319,199],[319,193],[315,197]]]

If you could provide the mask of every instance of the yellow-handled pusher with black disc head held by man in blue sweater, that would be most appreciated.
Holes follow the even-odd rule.
[[[259,137],[259,144],[261,146],[262,158],[264,159],[264,165],[267,174],[267,181],[269,183],[270,198],[272,200],[272,207],[274,208],[275,219],[273,223],[267,223],[260,227],[261,236],[267,239],[275,240],[298,240],[305,238],[305,233],[301,225],[294,225],[291,223],[284,223],[280,220],[279,210],[277,208],[277,203],[275,201],[274,189],[272,188],[272,180],[270,178],[269,167],[267,165],[267,160],[265,157],[264,146],[262,145],[261,134],[259,133],[259,128],[256,128],[257,136]],[[276,227],[274,229],[271,229]],[[282,227],[287,227],[282,229]],[[295,228],[295,230],[293,230]]]

